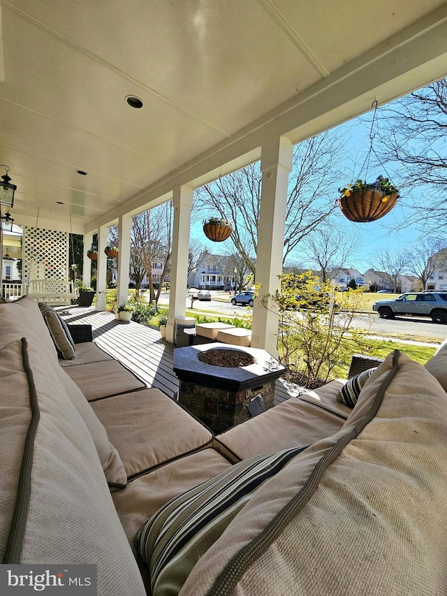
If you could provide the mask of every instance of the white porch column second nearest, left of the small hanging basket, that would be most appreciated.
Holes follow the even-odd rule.
[[[170,268],[169,321],[166,340],[174,343],[175,319],[184,317],[186,310],[186,283],[188,280],[189,219],[193,205],[193,189],[175,187],[173,191],[174,228],[173,258]]]

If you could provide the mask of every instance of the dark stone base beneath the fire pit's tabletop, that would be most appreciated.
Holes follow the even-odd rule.
[[[180,381],[179,402],[214,433],[223,433],[250,418],[247,406],[256,395],[262,395],[265,409],[272,407],[274,383],[275,381],[266,381],[261,386],[241,391],[224,391]]]

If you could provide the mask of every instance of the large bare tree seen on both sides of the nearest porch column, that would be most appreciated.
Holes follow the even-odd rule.
[[[293,150],[286,206],[284,260],[298,242],[336,208],[334,198],[340,180],[338,170],[344,157],[342,134],[335,129],[326,131],[296,145]],[[258,247],[261,181],[260,163],[252,163],[198,189],[193,207],[203,215],[233,221],[229,242],[233,242],[236,252],[242,256],[253,275]]]

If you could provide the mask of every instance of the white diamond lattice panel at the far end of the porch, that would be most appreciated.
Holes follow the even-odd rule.
[[[24,228],[24,276],[29,279],[68,279],[68,232]]]

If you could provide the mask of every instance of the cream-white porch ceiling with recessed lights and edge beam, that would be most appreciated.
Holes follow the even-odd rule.
[[[445,0],[0,7],[12,215],[80,233],[257,159],[272,136],[298,142],[447,74]]]

